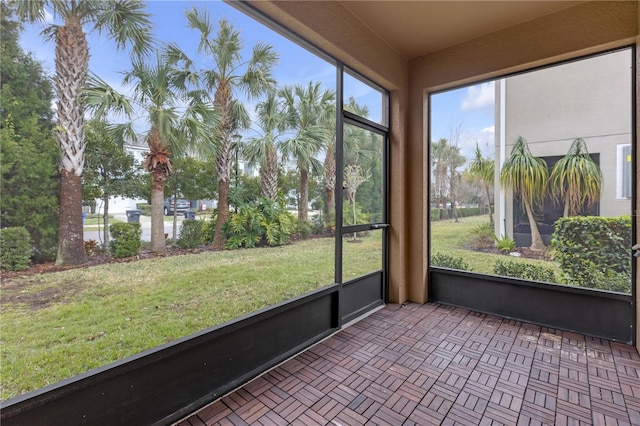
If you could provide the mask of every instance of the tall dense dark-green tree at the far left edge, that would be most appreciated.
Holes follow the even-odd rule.
[[[0,3],[0,211],[2,226],[24,226],[32,260],[55,258],[60,154],[53,138],[53,87],[18,44],[21,25]]]

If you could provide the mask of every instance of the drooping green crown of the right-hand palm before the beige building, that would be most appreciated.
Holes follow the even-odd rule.
[[[553,166],[549,181],[553,198],[564,199],[564,217],[575,215],[583,206],[591,207],[600,200],[602,172],[581,138],[574,140],[567,154]]]

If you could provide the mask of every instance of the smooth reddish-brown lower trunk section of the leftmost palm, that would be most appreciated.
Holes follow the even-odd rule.
[[[78,265],[86,261],[82,228],[82,182],[79,175],[62,169],[56,265]]]

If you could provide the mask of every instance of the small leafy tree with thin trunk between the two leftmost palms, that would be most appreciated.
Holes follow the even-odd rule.
[[[93,119],[87,123],[85,171],[82,174],[83,191],[92,199],[102,200],[102,244],[109,251],[109,199],[114,196],[137,197],[137,173],[135,158],[128,154],[124,142],[109,134],[104,120]],[[86,197],[85,197],[86,200]]]

